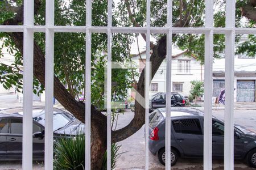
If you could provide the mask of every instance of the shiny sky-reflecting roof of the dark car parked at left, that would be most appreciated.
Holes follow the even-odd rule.
[[[64,111],[62,111],[61,109],[53,108],[53,113],[62,113],[62,112]],[[37,117],[43,113],[44,113],[43,106],[32,107],[32,117]],[[22,116],[23,116],[22,107],[0,109],[0,118],[1,117],[22,117]]]

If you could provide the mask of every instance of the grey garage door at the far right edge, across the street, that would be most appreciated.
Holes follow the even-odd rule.
[[[237,101],[255,101],[255,80],[237,80]]]

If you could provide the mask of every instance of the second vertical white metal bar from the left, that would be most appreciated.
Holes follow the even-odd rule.
[[[54,1],[46,0],[46,27],[54,25]],[[46,28],[46,126],[44,169],[53,169],[54,32]]]

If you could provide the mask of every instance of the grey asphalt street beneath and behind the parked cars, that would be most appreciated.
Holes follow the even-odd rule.
[[[250,105],[246,104],[236,104],[234,110],[234,123],[246,126],[247,128],[256,130],[256,107],[252,103]],[[33,105],[44,105],[43,102],[34,101]],[[22,103],[18,103],[16,95],[0,95],[0,109],[12,108],[12,107],[22,107]],[[63,108],[60,104],[55,105],[56,108]],[[132,120],[134,113],[130,110],[120,114],[118,117],[117,129],[122,128],[129,124]],[[224,109],[214,108],[213,116],[217,118],[224,119]],[[119,153],[122,153],[117,160],[117,167],[115,169],[144,169],[145,163],[145,142],[144,142],[144,126],[137,131],[131,137],[119,142],[121,149]],[[160,170],[164,169],[164,166],[159,163],[157,156],[151,155],[149,153],[149,163],[150,169]],[[203,166],[203,159],[180,159],[177,164],[172,169],[201,169]],[[213,168],[223,169],[223,160],[213,160]],[[235,162],[235,169],[250,169],[243,162]],[[11,162],[1,162],[0,169],[22,169],[22,162],[11,161]],[[44,169],[42,162],[34,162],[33,169]]]

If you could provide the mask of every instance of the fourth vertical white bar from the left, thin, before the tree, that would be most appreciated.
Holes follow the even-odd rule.
[[[107,169],[111,170],[111,103],[112,103],[112,0],[108,1],[108,65],[107,65]]]

